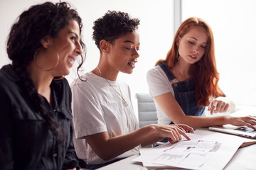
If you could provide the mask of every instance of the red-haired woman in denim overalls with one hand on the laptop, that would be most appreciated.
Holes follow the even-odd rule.
[[[147,73],[158,123],[183,123],[193,128],[225,124],[254,128],[256,119],[251,116],[201,117],[206,106],[210,114],[235,108],[218,87],[218,79],[213,32],[201,18],[188,18],[178,28],[166,60],[156,62],[156,67]]]

